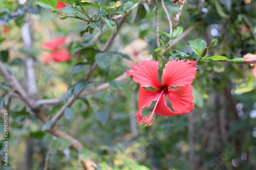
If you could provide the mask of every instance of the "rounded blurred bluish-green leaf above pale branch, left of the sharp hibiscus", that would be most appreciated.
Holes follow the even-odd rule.
[[[108,69],[113,65],[111,53],[97,53],[95,61],[101,69]]]

